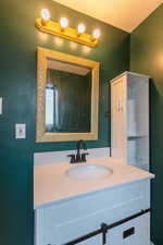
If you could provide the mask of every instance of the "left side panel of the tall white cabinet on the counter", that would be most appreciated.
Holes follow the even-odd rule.
[[[127,160],[126,101],[126,76],[123,76],[111,84],[111,155],[124,161]]]

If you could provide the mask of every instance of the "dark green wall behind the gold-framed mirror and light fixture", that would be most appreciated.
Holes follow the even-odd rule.
[[[39,33],[34,23],[42,8],[48,8],[54,20],[67,16],[71,26],[84,22],[88,32],[99,27],[100,46],[88,49]],[[75,143],[35,143],[36,48],[100,61],[99,140],[88,147],[103,147],[110,145],[106,81],[128,69],[128,35],[51,0],[1,0],[0,10],[0,244],[33,245],[33,154],[75,147]],[[26,123],[26,139],[14,139],[15,123]]]

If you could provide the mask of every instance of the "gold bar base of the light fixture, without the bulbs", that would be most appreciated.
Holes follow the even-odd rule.
[[[71,28],[68,26],[63,29],[59,23],[50,20],[45,22],[41,17],[38,17],[36,19],[35,25],[43,33],[60,36],[88,47],[96,47],[99,42],[98,38],[93,38],[87,33],[78,34],[77,29]]]

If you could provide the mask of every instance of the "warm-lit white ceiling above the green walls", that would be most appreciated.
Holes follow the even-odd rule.
[[[163,0],[54,0],[127,32],[135,29]]]

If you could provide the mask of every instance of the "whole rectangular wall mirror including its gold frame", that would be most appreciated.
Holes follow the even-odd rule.
[[[99,63],[38,48],[37,142],[98,139]]]

